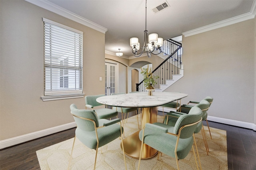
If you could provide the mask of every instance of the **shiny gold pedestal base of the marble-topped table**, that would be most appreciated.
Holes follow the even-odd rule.
[[[142,108],[142,129],[145,127],[146,123],[155,123],[157,122],[157,107],[143,107]],[[132,156],[133,158],[140,158],[140,148],[141,141],[139,139],[140,131],[135,132],[134,134],[123,139],[124,142],[124,152]],[[122,148],[122,143],[120,144]],[[158,153],[158,150],[143,144],[142,149],[142,159],[152,158]]]

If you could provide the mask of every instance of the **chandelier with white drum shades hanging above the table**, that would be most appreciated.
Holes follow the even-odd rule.
[[[157,33],[151,33],[148,35],[147,30],[147,0],[146,0],[146,29],[144,31],[144,45],[141,52],[138,52],[140,50],[140,43],[139,39],[137,37],[130,38],[130,46],[132,47],[132,53],[134,54],[134,57],[140,57],[144,50],[147,52],[148,57],[151,57],[151,54],[157,55],[160,54],[162,51],[160,47],[163,45],[163,39],[158,38]],[[156,51],[153,53],[153,51]]]

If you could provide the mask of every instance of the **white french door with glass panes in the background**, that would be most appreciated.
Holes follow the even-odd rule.
[[[105,63],[105,95],[117,93],[117,64]]]

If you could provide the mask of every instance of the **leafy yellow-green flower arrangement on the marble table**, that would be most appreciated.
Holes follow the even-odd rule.
[[[152,76],[152,68],[150,67],[149,68],[149,65],[147,68],[140,68],[141,70],[141,74],[143,75],[143,78],[144,78],[144,86],[146,88],[152,88],[152,84],[157,84],[156,83],[156,79],[159,78],[159,76]]]

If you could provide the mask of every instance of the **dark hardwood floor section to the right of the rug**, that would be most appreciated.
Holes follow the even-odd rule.
[[[210,127],[227,133],[228,169],[256,170],[256,132],[208,121]],[[204,121],[204,125],[207,125]]]

